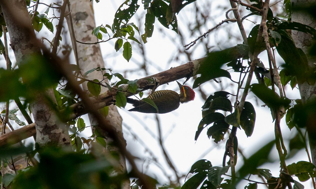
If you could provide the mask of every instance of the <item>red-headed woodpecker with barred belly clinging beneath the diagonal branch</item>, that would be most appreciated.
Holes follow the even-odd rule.
[[[158,107],[158,111],[144,100],[127,98],[127,102],[135,107],[128,111],[165,114],[179,108],[180,103],[187,103],[193,100],[195,97],[194,91],[189,86],[183,86],[178,81],[177,83],[180,88],[180,94],[172,90],[161,90],[155,91],[147,97],[154,101]]]

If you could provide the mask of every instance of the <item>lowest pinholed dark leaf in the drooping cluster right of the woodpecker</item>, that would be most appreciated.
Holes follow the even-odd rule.
[[[217,144],[219,141],[224,139],[225,133],[228,131],[229,124],[222,120],[214,121],[212,127],[207,130],[207,136],[214,139],[214,142]]]

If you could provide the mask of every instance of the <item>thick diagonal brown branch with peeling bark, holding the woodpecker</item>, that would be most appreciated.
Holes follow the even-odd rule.
[[[239,49],[236,48],[236,46],[230,48],[229,53],[232,55],[232,59],[241,58],[244,55],[247,56],[247,53],[240,52]],[[159,85],[167,84],[172,81],[179,80],[181,78],[190,78],[192,76],[199,74],[199,68],[204,63],[209,64],[212,62],[204,62],[204,58],[193,60],[191,62],[187,62],[178,67],[170,68],[158,74],[154,74],[154,75],[139,79],[137,81],[137,87],[142,89],[142,91],[153,88],[155,84],[149,80],[152,78],[155,78],[155,80],[158,81]],[[122,91],[127,91],[128,85],[123,85],[122,88],[123,88]],[[126,97],[129,97],[129,96],[134,95],[135,93],[124,92],[124,94]],[[115,96],[115,90],[112,90],[112,92],[108,90],[100,94],[99,97],[92,98],[94,102],[94,107],[96,109],[100,109],[100,108],[103,108],[105,106],[115,103],[113,96]],[[78,116],[87,114],[89,112],[89,110],[81,102],[73,104],[72,106],[70,106],[70,109],[72,110],[72,113],[64,121],[70,121],[70,120],[76,119]],[[60,114],[63,115],[63,111],[61,111]],[[35,127],[34,124],[30,124],[25,127],[26,128],[23,127],[21,129],[12,131],[11,133],[0,136],[0,146],[15,144],[23,139],[27,139],[33,136],[36,133],[34,129]]]

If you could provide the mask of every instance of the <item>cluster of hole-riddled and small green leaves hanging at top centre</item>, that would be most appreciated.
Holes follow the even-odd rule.
[[[186,5],[196,0],[188,0],[179,5],[178,12]],[[143,43],[147,43],[147,38],[150,38],[154,32],[155,18],[161,23],[162,26],[169,28],[178,33],[178,23],[175,14],[173,13],[170,0],[145,0],[142,1],[145,9],[145,31],[141,35]],[[126,0],[117,9],[112,27],[108,24],[95,27],[92,31],[92,35],[96,36],[101,41],[104,41],[103,34],[107,34],[110,40],[117,38],[114,49],[119,51],[123,47],[123,57],[129,62],[132,56],[132,46],[128,40],[132,40],[141,44],[141,42],[135,37],[135,30],[140,35],[138,27],[134,23],[129,23],[131,17],[135,15],[139,8],[138,0]],[[112,32],[112,37],[108,33],[108,29]],[[103,33],[103,34],[102,34]],[[128,36],[127,36],[128,35]],[[107,41],[106,40],[106,41]],[[124,40],[126,40],[124,42]],[[123,44],[124,42],[124,44]]]

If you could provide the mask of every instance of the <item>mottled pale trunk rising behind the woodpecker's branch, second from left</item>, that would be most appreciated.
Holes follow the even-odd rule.
[[[74,35],[76,40],[84,43],[95,43],[97,39],[94,35],[91,34],[93,28],[95,27],[94,21],[94,11],[92,7],[92,2],[90,0],[70,0],[71,4],[71,15],[72,15],[72,22],[74,28]],[[70,30],[70,36],[72,38],[71,33],[71,23],[69,17],[67,17],[68,27]],[[72,44],[74,47],[74,38],[72,38]],[[87,72],[93,68],[105,68],[104,61],[102,59],[102,54],[100,50],[99,44],[81,44],[76,43],[77,47],[77,54],[78,54],[78,63],[82,73]],[[74,48],[73,48],[74,49]],[[75,53],[76,54],[76,53]],[[103,75],[101,72],[94,71],[86,76],[88,80],[98,79],[102,81]],[[108,80],[104,80],[108,82]],[[86,82],[83,83],[83,88],[87,89]],[[101,94],[106,92],[106,87],[101,87]],[[106,119],[112,123],[118,133],[121,133],[122,136],[121,140],[124,140],[123,133],[122,133],[122,117],[119,115],[117,108],[113,105],[109,106],[109,114],[107,115]],[[92,115],[89,115],[89,120],[92,125],[96,125],[97,122]],[[111,154],[120,154],[119,150],[113,145],[112,138],[109,136],[106,137],[106,144],[107,144],[107,151],[110,151]],[[126,162],[125,158],[122,155],[119,155],[119,164],[121,170],[119,172],[124,173],[126,172]],[[129,188],[129,181],[124,183],[123,188]]]

